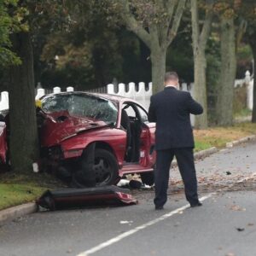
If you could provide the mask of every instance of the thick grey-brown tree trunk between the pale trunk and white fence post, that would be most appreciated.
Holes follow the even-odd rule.
[[[233,124],[234,83],[236,79],[236,38],[234,19],[221,20],[221,71],[216,106],[217,124]]]

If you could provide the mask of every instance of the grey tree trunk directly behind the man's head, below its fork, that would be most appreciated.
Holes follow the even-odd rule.
[[[156,49],[155,49],[156,48]],[[153,94],[163,90],[166,73],[166,47],[151,49]]]

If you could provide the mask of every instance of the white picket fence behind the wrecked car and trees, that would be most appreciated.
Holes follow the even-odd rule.
[[[247,84],[247,108],[253,109],[253,77],[251,77],[250,73],[247,71],[244,79],[236,79],[234,84],[235,87],[241,86],[242,84]],[[117,87],[117,88],[116,88]],[[115,90],[116,89],[116,90]],[[189,90],[192,96],[194,95],[194,84],[181,84],[181,90]],[[73,91],[73,87],[67,87],[67,91]],[[96,90],[89,90],[92,92],[107,92],[108,94],[125,96],[127,98],[131,98],[139,102],[144,106],[144,108],[148,109],[150,103],[150,96],[152,96],[152,83],[145,84],[143,82],[139,84],[129,83],[118,84],[115,86],[114,84],[108,84],[107,88],[99,88]],[[52,93],[61,92],[60,87],[55,87],[51,91]],[[44,90],[43,88],[39,88],[37,90],[36,99],[39,99],[41,96],[49,93],[49,90]],[[0,99],[0,111],[9,108],[9,94],[7,91],[3,91],[1,93]],[[193,120],[192,120],[193,123]]]

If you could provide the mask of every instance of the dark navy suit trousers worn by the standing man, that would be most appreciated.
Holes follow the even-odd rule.
[[[193,148],[170,148],[157,150],[156,152],[156,166],[154,169],[154,205],[156,207],[164,206],[167,201],[169,172],[174,155],[177,159],[179,172],[183,178],[187,201],[190,204],[198,202]]]

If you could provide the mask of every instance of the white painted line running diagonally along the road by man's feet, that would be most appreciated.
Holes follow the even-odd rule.
[[[212,195],[215,195],[215,193],[212,193],[212,194],[209,194],[209,195],[201,197],[200,201],[205,201],[208,198],[212,197]],[[113,237],[112,239],[110,239],[108,241],[104,241],[101,244],[97,245],[96,247],[92,247],[92,248],[90,248],[89,250],[87,250],[87,251],[85,251],[83,253],[79,253],[77,256],[88,256],[90,254],[96,253],[96,252],[102,250],[105,247],[109,247],[109,246],[113,245],[113,243],[116,243],[118,241],[123,240],[125,237],[131,236],[131,235],[137,233],[139,230],[144,230],[144,229],[148,228],[149,226],[157,224],[157,223],[159,223],[160,221],[162,221],[162,220],[164,220],[166,218],[170,218],[173,215],[175,215],[175,214],[177,214],[179,212],[182,212],[183,210],[185,210],[185,209],[187,209],[189,207],[190,207],[189,204],[187,204],[187,205],[185,205],[183,207],[177,208],[176,210],[174,210],[172,212],[168,212],[168,213],[160,216],[159,218],[155,218],[155,219],[153,219],[151,221],[148,221],[146,224],[142,224],[140,226],[137,226],[136,228],[134,228],[132,230],[128,230],[125,233],[123,233],[123,234],[121,234],[119,236]]]

